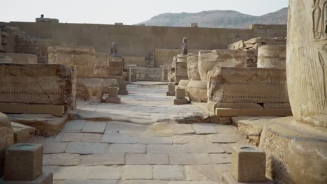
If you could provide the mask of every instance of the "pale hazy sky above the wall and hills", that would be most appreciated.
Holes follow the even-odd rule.
[[[136,24],[160,13],[236,10],[264,15],[288,6],[288,0],[1,0],[0,22],[35,22],[36,17],[60,22]]]

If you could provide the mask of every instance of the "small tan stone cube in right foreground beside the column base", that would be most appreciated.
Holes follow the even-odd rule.
[[[266,181],[266,153],[256,147],[233,146],[231,174],[238,182]]]

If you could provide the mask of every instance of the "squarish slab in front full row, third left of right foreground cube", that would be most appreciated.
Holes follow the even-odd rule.
[[[152,167],[150,165],[125,165],[120,170],[122,180],[152,179]]]

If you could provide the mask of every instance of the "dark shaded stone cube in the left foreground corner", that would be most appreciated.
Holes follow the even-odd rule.
[[[6,150],[4,179],[34,181],[42,174],[42,144],[14,144]]]

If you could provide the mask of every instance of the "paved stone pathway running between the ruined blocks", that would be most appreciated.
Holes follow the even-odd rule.
[[[78,102],[56,137],[34,139],[54,184],[220,183],[244,137],[231,125],[177,124],[175,116],[203,110],[174,106],[166,85],[136,84],[120,105]]]

